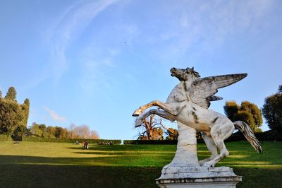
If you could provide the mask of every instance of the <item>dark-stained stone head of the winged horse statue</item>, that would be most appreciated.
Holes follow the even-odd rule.
[[[190,81],[200,78],[200,74],[194,70],[194,67],[186,69],[171,68],[171,76],[175,76],[179,81]]]

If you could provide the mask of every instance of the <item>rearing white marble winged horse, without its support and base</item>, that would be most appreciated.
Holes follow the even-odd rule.
[[[214,167],[219,160],[229,154],[223,141],[231,136],[235,128],[244,134],[257,152],[262,153],[261,144],[245,122],[231,122],[223,114],[208,109],[211,101],[222,99],[214,95],[219,88],[236,83],[245,78],[247,74],[200,78],[200,74],[194,68],[172,68],[171,76],[178,78],[180,83],[173,88],[166,102],[154,100],[135,110],[133,113],[133,116],[137,116],[135,127],[140,127],[143,119],[149,115],[157,114],[202,132],[204,142],[212,153],[211,157],[199,161],[200,165],[204,167]],[[159,107],[159,110],[152,109],[144,112],[153,106]],[[217,148],[220,151],[219,154]]]

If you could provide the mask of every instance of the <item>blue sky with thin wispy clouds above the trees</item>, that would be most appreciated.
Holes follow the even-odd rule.
[[[210,108],[262,107],[282,84],[281,19],[278,0],[0,1],[0,90],[30,98],[28,125],[87,124],[102,139],[136,139],[131,114],[166,100],[173,66],[247,73]]]

